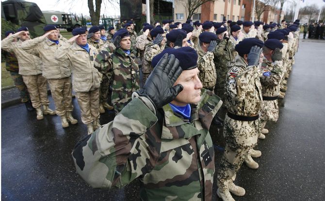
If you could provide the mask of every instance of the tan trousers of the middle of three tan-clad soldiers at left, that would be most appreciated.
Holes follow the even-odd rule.
[[[65,112],[72,112],[72,84],[70,77],[62,79],[48,79],[49,88],[55,105],[55,113],[64,116]]]

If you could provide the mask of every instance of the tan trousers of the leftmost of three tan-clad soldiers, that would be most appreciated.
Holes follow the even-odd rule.
[[[38,108],[41,105],[49,105],[47,79],[42,74],[23,75],[22,78],[27,86],[33,107]]]

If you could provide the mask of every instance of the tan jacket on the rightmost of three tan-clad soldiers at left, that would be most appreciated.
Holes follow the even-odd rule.
[[[72,64],[72,86],[75,92],[89,92],[99,88],[101,74],[94,67],[98,54],[95,47],[89,45],[89,53],[75,42],[67,42],[55,52],[55,59],[69,60]]]

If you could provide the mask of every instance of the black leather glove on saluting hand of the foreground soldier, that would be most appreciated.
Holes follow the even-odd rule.
[[[183,90],[183,86],[180,84],[173,86],[181,72],[179,60],[173,54],[168,56],[166,53],[154,67],[144,87],[137,93],[139,96],[149,99],[157,110],[173,101]]]

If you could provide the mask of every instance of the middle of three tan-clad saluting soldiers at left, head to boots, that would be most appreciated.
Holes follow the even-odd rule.
[[[71,124],[78,123],[78,120],[72,117],[72,87],[71,71],[68,60],[57,61],[54,58],[55,51],[65,44],[59,40],[58,31],[55,26],[47,25],[44,27],[43,36],[27,40],[22,43],[23,50],[36,51],[42,60],[43,76],[49,81],[52,98],[55,104],[55,113],[61,117],[63,128]]]

